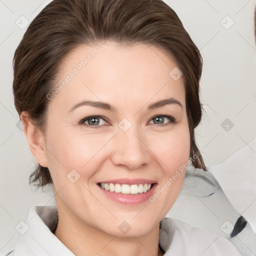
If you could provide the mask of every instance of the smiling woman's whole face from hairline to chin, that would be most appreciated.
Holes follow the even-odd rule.
[[[110,42],[63,60],[45,145],[58,210],[74,222],[143,235],[174,203],[190,147],[183,79],[169,74],[176,66],[157,47]]]

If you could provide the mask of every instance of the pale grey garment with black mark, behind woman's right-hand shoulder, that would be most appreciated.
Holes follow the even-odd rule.
[[[209,171],[192,165],[186,168],[181,191],[166,217],[223,236],[242,256],[256,255],[256,236],[250,224],[234,208]]]

